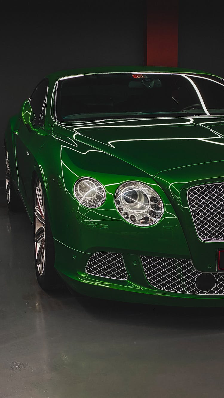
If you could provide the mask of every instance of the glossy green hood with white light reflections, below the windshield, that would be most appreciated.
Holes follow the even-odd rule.
[[[224,160],[224,117],[55,123],[53,135],[115,156],[152,177],[214,162],[220,168]]]

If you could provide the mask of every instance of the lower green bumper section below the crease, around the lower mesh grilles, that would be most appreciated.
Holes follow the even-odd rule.
[[[102,250],[103,251],[103,250]],[[172,306],[224,306],[224,295],[166,291],[150,285],[139,254],[123,253],[127,279],[90,275],[86,264],[94,253],[83,253],[55,240],[55,267],[62,279],[81,294],[109,300]]]

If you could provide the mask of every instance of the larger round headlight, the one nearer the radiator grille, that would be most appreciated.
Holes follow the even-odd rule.
[[[138,181],[125,182],[117,189],[115,206],[125,220],[138,226],[155,224],[164,213],[158,193]]]

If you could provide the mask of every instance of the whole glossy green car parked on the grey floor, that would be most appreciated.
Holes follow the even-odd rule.
[[[84,295],[224,306],[224,79],[146,66],[41,80],[6,129],[6,196],[37,280]]]

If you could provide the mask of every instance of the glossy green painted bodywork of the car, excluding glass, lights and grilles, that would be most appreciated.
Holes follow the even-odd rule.
[[[53,119],[53,90],[59,78],[135,70],[149,68],[78,69],[49,75],[45,125],[29,131],[16,115],[6,129],[14,184],[32,221],[33,179],[41,179],[55,240],[55,267],[80,293],[154,304],[224,305],[221,296],[158,291],[148,283],[140,259],[142,255],[191,259],[197,270],[216,272],[217,250],[223,244],[198,238],[186,193],[194,185],[224,180],[224,116],[136,117],[87,121],[85,125]],[[75,181],[86,176],[97,179],[106,189],[106,201],[97,209],[80,205],[74,197]],[[160,195],[165,211],[157,224],[138,227],[118,213],[114,195],[125,181],[141,181]],[[88,275],[85,266],[95,252],[122,253],[129,279]]]

